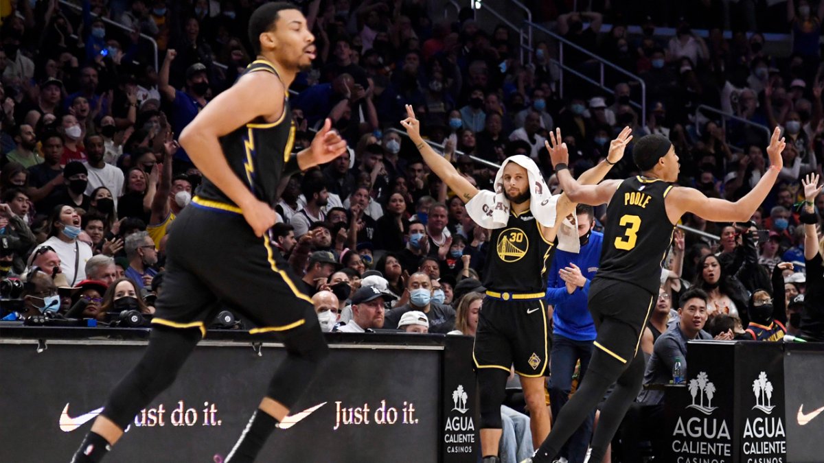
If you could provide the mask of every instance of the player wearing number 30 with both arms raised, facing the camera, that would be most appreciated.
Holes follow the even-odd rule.
[[[468,203],[478,190],[446,159],[434,152],[420,136],[419,121],[410,105],[407,119],[401,121],[424,161],[461,199]],[[579,180],[595,184],[612,164],[624,156],[630,142],[630,129],[612,141],[606,161],[584,172]],[[505,395],[510,367],[521,376],[521,385],[530,410],[534,445],[550,431],[546,409],[544,376],[548,362],[549,339],[543,299],[546,269],[555,250],[555,236],[564,217],[574,213],[575,204],[561,197],[556,203],[555,227],[541,226],[530,210],[531,188],[527,170],[515,162],[503,167],[503,192],[509,200],[506,227],[493,230],[489,256],[484,269],[488,288],[480,311],[473,357],[480,387],[480,445],[483,463],[499,461],[501,437],[500,407]],[[550,206],[546,206],[550,207]],[[576,235],[577,239],[577,235]]]

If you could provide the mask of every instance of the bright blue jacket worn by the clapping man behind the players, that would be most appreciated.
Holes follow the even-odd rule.
[[[593,231],[588,243],[581,246],[581,252],[578,254],[555,250],[555,257],[552,259],[550,274],[546,281],[546,303],[555,306],[552,314],[553,333],[574,341],[595,340],[595,323],[589,315],[587,298],[589,283],[592,282],[592,277],[598,271],[598,264],[601,261],[603,241],[603,233]],[[572,294],[567,292],[566,283],[558,274],[560,269],[569,267],[570,263],[578,265],[581,274],[587,278],[587,283],[583,288],[575,288]]]

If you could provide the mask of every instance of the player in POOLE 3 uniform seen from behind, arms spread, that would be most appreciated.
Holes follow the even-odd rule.
[[[616,383],[592,436],[590,463],[602,463],[606,447],[626,410],[641,390],[644,356],[636,355],[649,310],[658,297],[661,264],[675,224],[684,213],[711,222],[746,222],[775,184],[783,166],[784,138],[775,129],[767,147],[770,169],[750,193],[736,202],[707,198],[697,189],[677,187],[678,156],[661,135],[647,135],[633,147],[642,175],[580,185],[569,175],[569,152],[560,130],[550,133],[546,147],[564,194],[574,202],[606,208],[601,266],[589,289],[589,311],[597,328],[595,352],[587,376],[561,409],[552,432],[532,456],[533,463],[551,462],[569,436],[592,413]]]

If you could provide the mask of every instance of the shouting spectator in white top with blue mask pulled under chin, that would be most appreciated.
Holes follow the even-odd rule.
[[[93,255],[91,247],[77,240],[82,232],[80,225],[80,215],[73,207],[55,206],[49,214],[49,239],[38,246],[38,249],[49,246],[57,253],[60,270],[68,286],[86,279],[86,263]]]

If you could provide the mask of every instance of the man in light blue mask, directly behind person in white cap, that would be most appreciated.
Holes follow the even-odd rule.
[[[386,328],[397,328],[400,318],[409,311],[421,311],[426,314],[431,333],[445,334],[455,328],[455,309],[432,300],[431,281],[432,278],[428,274],[421,272],[410,276],[399,305],[386,314]]]

